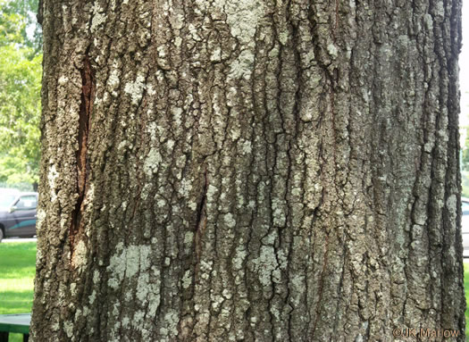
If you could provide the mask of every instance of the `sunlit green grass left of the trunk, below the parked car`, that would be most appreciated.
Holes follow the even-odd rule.
[[[0,243],[0,314],[30,313],[36,269],[36,242]],[[9,341],[21,342],[21,334]]]

